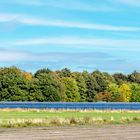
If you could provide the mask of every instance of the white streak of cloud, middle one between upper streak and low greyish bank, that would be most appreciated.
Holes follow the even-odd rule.
[[[7,47],[23,47],[23,46],[36,46],[41,47],[50,45],[64,45],[75,46],[80,48],[98,48],[107,50],[135,50],[140,51],[140,40],[127,40],[127,39],[108,39],[108,38],[72,38],[72,37],[58,37],[58,38],[31,38],[31,39],[20,39],[20,40],[8,40],[1,42],[2,46]]]

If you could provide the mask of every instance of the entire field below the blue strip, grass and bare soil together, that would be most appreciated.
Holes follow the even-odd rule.
[[[140,111],[0,110],[1,140],[140,139]]]

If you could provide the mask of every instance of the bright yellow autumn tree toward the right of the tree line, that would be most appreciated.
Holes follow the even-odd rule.
[[[131,88],[125,83],[119,87],[120,102],[129,102],[131,99]]]

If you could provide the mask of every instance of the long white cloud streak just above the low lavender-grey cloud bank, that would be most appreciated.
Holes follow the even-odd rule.
[[[140,40],[121,40],[121,39],[107,39],[107,38],[70,38],[70,37],[58,37],[58,38],[32,38],[23,39],[13,42],[16,46],[39,46],[39,45],[92,45],[93,47],[109,47],[110,49],[121,48],[127,50],[133,50],[133,47],[140,47]],[[99,48],[100,49],[100,48]]]

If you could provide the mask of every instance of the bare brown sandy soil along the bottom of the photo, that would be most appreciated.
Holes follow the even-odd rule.
[[[140,125],[0,128],[0,140],[140,140]]]

